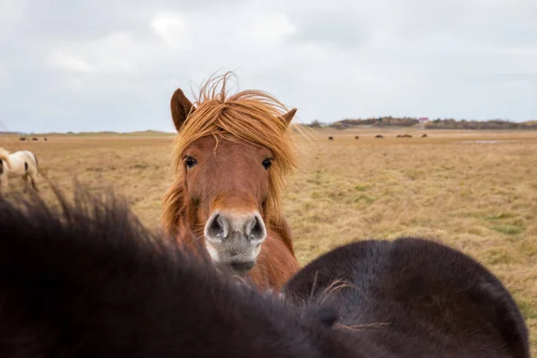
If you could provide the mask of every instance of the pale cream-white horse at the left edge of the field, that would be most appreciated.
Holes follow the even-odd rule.
[[[30,179],[31,186],[38,191],[38,158],[28,150],[13,153],[0,148],[0,187],[7,188],[9,178],[22,177],[25,182]]]

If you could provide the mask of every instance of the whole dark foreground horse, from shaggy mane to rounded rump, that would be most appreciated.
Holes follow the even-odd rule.
[[[348,244],[282,300],[149,233],[115,195],[30,195],[0,196],[1,357],[530,356],[499,280],[438,243]]]

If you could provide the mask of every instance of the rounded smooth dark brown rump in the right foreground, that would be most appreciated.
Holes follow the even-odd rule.
[[[506,287],[440,243],[341,246],[302,268],[282,294],[335,311],[334,327],[382,345],[388,356],[530,357],[528,329]]]

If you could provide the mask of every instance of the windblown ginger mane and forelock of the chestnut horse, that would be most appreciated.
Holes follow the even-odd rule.
[[[265,216],[267,228],[280,234],[292,249],[291,237],[286,234],[282,212],[281,194],[285,188],[284,177],[297,167],[297,135],[306,134],[300,125],[287,126],[278,118],[288,108],[277,98],[262,90],[243,90],[230,94],[227,82],[232,72],[211,77],[200,86],[194,96],[193,110],[184,121],[174,142],[172,151],[175,182],[163,197],[162,223],[166,231],[175,234],[183,226],[182,217],[188,215],[185,200],[184,177],[181,160],[184,150],[201,137],[212,135],[215,139],[246,141],[264,146],[274,153],[269,171],[270,196]]]

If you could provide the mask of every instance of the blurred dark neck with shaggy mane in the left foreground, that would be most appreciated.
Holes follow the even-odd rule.
[[[123,200],[0,198],[0,356],[361,357],[378,348],[146,231]]]

